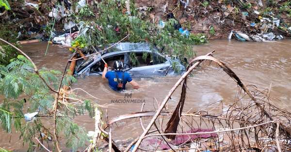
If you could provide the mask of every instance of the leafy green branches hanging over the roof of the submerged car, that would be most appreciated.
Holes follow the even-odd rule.
[[[130,6],[133,6],[130,0]],[[102,0],[97,5],[98,17],[93,22],[85,22],[86,26],[94,29],[87,31],[87,42],[93,46],[105,47],[107,44],[115,43],[129,34],[125,41],[129,42],[149,42],[161,48],[165,54],[174,56],[190,56],[191,45],[207,42],[200,34],[190,34],[187,38],[174,28],[178,24],[175,19],[169,19],[164,28],[149,21],[142,20],[136,14],[137,9],[131,8],[130,16],[122,13],[126,8],[125,0],[116,2],[115,0]],[[202,39],[201,39],[202,38]],[[199,40],[201,39],[201,40]],[[163,49],[162,49],[163,48]]]

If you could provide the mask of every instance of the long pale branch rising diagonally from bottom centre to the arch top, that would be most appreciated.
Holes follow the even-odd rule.
[[[207,55],[211,55],[213,53],[210,52]],[[150,123],[147,125],[146,130],[144,131],[144,133],[140,136],[140,138],[138,139],[138,141],[136,142],[132,152],[136,152],[136,150],[138,149],[139,145],[141,144],[143,138],[146,136],[146,134],[148,133],[149,129],[151,128],[151,126],[155,123],[156,119],[158,118],[158,116],[160,115],[160,113],[162,112],[162,109],[164,108],[164,106],[166,105],[166,103],[168,102],[169,98],[172,96],[172,94],[175,92],[175,90],[178,88],[178,86],[181,84],[181,82],[185,79],[185,77],[188,76],[188,74],[195,69],[199,64],[201,63],[201,61],[196,62],[193,66],[191,66],[189,68],[188,71],[186,71],[181,77],[180,79],[177,81],[177,83],[173,86],[173,88],[169,91],[168,95],[164,98],[164,100],[162,101],[158,111],[156,112],[156,114],[154,115],[154,117],[152,118],[152,120],[150,121]]]

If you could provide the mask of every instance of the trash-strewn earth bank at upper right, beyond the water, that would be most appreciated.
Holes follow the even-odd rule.
[[[205,33],[209,39],[273,41],[291,36],[288,0],[155,0],[154,3],[136,0],[136,3],[139,7],[153,8],[149,17],[152,22],[164,21],[165,14],[172,13],[182,28]]]

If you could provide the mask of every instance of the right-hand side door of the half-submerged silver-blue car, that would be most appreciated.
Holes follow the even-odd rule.
[[[145,52],[135,52],[137,55],[135,57],[139,57],[140,53]],[[151,56],[151,61],[146,61],[146,64],[140,64],[139,66],[133,66],[128,72],[130,75],[134,77],[138,76],[164,76],[169,67],[171,66],[170,61],[166,60],[162,55],[146,52]],[[130,55],[130,60],[132,64],[132,56]]]

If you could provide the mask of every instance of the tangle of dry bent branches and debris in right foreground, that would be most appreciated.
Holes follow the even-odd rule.
[[[104,130],[114,129],[113,124],[117,122],[140,118],[143,128],[139,137],[131,142],[124,141],[126,145],[114,149],[115,152],[138,149],[148,152],[291,151],[291,113],[276,106],[281,101],[270,96],[271,86],[259,90],[255,85],[245,85],[225,63],[211,54],[198,56],[190,62],[157,111],[143,111],[143,105],[141,112],[120,115],[107,122]],[[208,61],[211,63],[201,64]],[[238,94],[230,105],[219,100],[198,111],[184,110],[187,76],[199,65],[211,64],[219,66],[238,84]],[[180,84],[182,91],[176,109],[168,111],[164,106]]]

